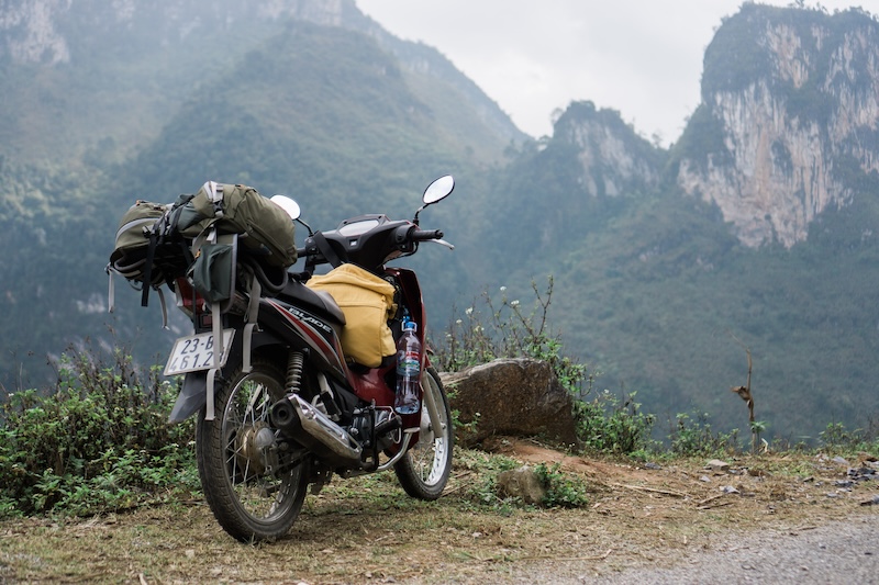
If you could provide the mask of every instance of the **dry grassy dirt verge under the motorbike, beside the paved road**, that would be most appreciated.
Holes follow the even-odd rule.
[[[334,480],[310,495],[285,539],[242,544],[201,500],[77,519],[0,522],[0,583],[512,583],[535,565],[576,562],[587,577],[669,567],[879,513],[879,464],[815,454],[630,463],[541,445],[487,446],[523,463],[560,463],[589,504],[538,509],[476,502],[480,451],[456,451],[445,495],[409,498],[392,473]],[[728,465],[728,466],[726,466]]]

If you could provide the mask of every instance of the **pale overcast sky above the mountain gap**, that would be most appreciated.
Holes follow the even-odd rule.
[[[823,0],[828,12],[875,0]],[[355,0],[393,35],[445,55],[534,137],[575,100],[675,142],[699,104],[702,56],[741,0]],[[788,5],[790,0],[761,3]],[[814,5],[808,0],[806,5]]]

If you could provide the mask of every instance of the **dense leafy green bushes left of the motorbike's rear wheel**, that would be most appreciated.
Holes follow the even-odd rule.
[[[71,349],[55,389],[0,406],[0,515],[92,514],[198,488],[191,421],[166,423],[176,389],[122,351]]]

